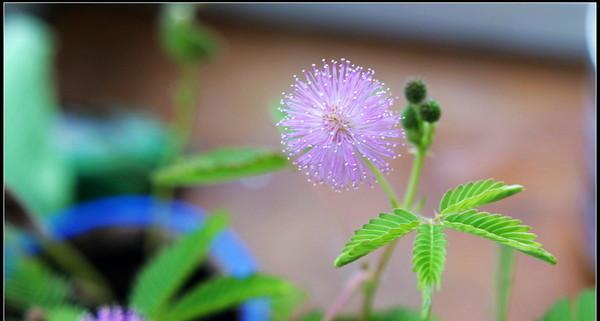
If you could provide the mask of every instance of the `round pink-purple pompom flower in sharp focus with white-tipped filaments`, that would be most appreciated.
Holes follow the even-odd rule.
[[[400,115],[389,88],[363,69],[342,58],[323,59],[294,75],[289,93],[283,93],[285,117],[282,144],[294,164],[315,184],[327,183],[334,190],[370,185],[375,176],[364,159],[383,173],[391,170],[388,158],[404,137]]]

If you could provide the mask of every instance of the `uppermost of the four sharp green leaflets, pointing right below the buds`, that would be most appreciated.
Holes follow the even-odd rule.
[[[440,213],[457,213],[499,201],[523,190],[521,185],[506,185],[493,179],[480,180],[447,191],[440,201]]]

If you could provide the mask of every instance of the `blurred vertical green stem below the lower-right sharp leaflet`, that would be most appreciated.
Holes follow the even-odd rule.
[[[496,321],[506,321],[515,266],[515,251],[499,245],[496,269]]]

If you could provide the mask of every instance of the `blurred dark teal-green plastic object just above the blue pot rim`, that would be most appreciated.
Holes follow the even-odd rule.
[[[150,193],[151,172],[173,150],[166,126],[144,113],[65,114],[57,128],[57,148],[77,175],[79,202]]]

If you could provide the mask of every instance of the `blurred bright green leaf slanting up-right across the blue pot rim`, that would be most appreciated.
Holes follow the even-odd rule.
[[[208,253],[212,240],[226,226],[226,217],[213,214],[204,226],[177,240],[152,258],[138,275],[130,306],[153,319]]]

